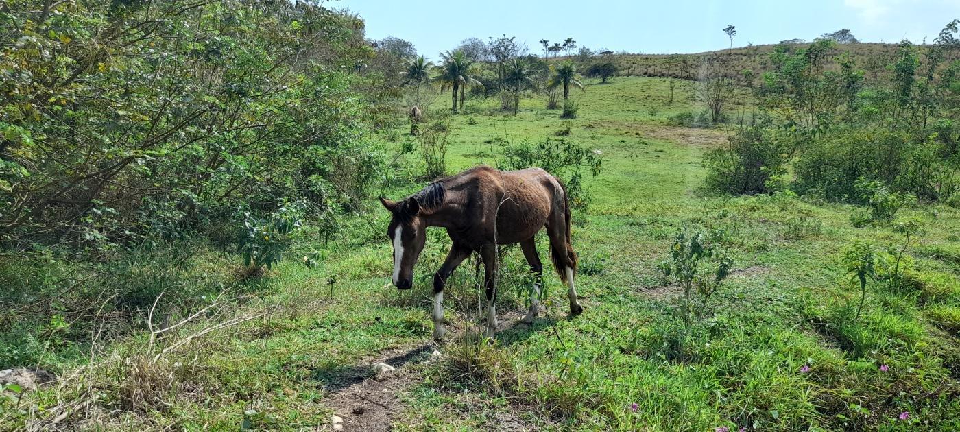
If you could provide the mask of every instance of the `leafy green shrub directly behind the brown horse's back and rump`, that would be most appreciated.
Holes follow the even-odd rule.
[[[503,169],[540,167],[563,179],[570,206],[574,208],[587,208],[590,202],[583,188],[581,168],[589,167],[590,174],[596,177],[603,166],[603,159],[597,153],[564,138],[546,138],[537,144],[526,140],[516,146],[505,144],[503,156],[500,162]]]

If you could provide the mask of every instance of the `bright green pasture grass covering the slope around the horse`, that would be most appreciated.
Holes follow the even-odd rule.
[[[494,138],[512,143],[559,138],[554,133],[567,126],[571,133],[565,139],[602,153],[602,174],[587,182],[593,203],[588,212],[573,215],[574,248],[588,269],[577,279],[585,313],[565,318],[565,290],[548,268],[551,319],[504,330],[492,347],[454,344],[443,348],[446,359],[440,363],[409,363],[404,368],[409,382],[392,407],[396,429],[469,430],[507,420],[590,430],[960,427],[957,243],[955,236],[948,240],[960,228],[957,210],[938,208],[935,219],[923,209],[902,210],[903,217],[920,217],[926,224],[924,246],[914,253],[916,268],[907,273],[900,292],[871,284],[864,312],[854,322],[859,291],[845,274],[843,248],[860,238],[886,244],[896,234],[888,228],[852,228],[851,205],[786,196],[702,196],[702,156],[726,133],[664,126],[671,113],[699,109],[685,92],[667,104],[667,91],[661,79],[614,78],[575,93],[580,117],[572,121],[559,119],[558,110],[542,109],[539,98],[524,99],[517,116],[494,109],[493,100],[468,101],[467,113],[453,118],[447,150],[451,173],[477,163],[496,165],[501,147]],[[431,109],[442,110],[446,100],[440,95]],[[657,117],[649,114],[651,107],[658,108]],[[420,176],[416,154],[397,164],[403,177]],[[396,199],[422,184],[407,182],[385,194]],[[99,383],[102,396],[85,416],[107,428],[326,424],[333,414],[328,402],[343,383],[370,376],[358,365],[430,338],[429,277],[448,248],[445,233],[431,229],[416,269],[417,286],[397,292],[385,286],[392,265],[383,235],[388,214],[370,205],[371,224],[352,225],[341,240],[324,245],[309,235],[300,239],[297,251],[330,252],[320,270],[306,270],[291,258],[265,277],[269,282],[248,286],[230,281],[223,270],[228,265],[211,259],[230,255],[207,248],[187,270],[170,276],[186,281],[206,275],[228,281],[228,287],[245,287],[242,301],[230,302],[222,315],[204,318],[205,323],[263,315],[201,338],[163,361],[141,360],[151,365],[141,369],[175,377],[175,386],[160,389],[164,403],[121,397],[129,393],[124,382],[152,376],[128,364],[135,361],[122,360],[139,358],[150,345],[143,325],[133,325],[99,346],[92,365],[85,355],[89,344],[72,346],[76,353],[71,355],[54,349],[33,357],[60,373],[90,369],[86,378],[24,399],[28,408],[21,407],[20,414],[0,412],[7,421],[0,428],[28,415],[44,418],[44,410],[82,394],[90,382]],[[815,221],[818,228],[798,235],[796,221]],[[673,235],[685,225],[725,230],[736,271],[717,293],[705,324],[688,339],[678,336],[681,321],[671,291],[664,295],[659,288],[657,270]],[[546,251],[545,239],[539,241],[540,251]],[[519,311],[525,290],[522,253],[508,249],[503,260],[498,305]],[[331,277],[336,280],[332,297]],[[209,291],[199,290],[192,298],[204,304],[196,298]],[[481,327],[471,261],[454,275],[448,292],[453,327],[459,332]],[[158,347],[202,325],[185,326]],[[36,337],[42,345],[45,336]],[[882,365],[889,371],[881,372]],[[911,413],[910,420],[896,420],[903,411]]]

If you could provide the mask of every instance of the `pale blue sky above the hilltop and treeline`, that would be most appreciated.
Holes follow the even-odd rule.
[[[324,6],[357,12],[368,37],[409,40],[433,60],[468,37],[502,34],[517,36],[534,53],[541,52],[541,38],[568,36],[591,49],[698,53],[726,48],[727,24],[736,26],[734,46],[810,40],[841,28],[863,41],[920,42],[960,18],[960,0],[326,0]]]

